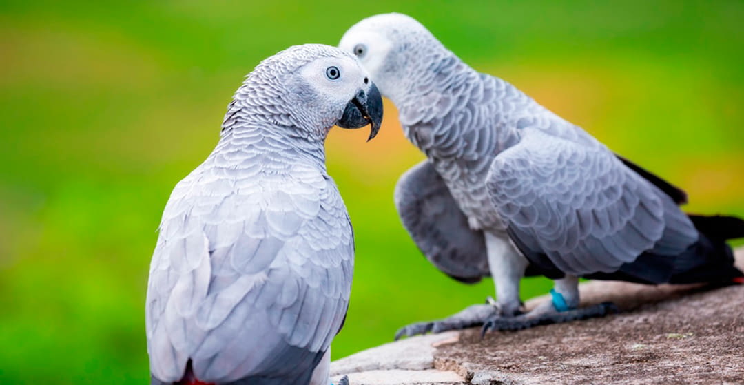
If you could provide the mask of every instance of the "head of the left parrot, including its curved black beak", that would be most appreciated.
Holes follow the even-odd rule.
[[[296,45],[263,60],[236,99],[251,104],[254,116],[265,114],[309,138],[324,137],[334,125],[371,125],[372,139],[382,124],[382,97],[368,72],[353,55],[327,45]]]

